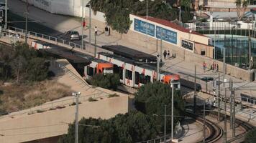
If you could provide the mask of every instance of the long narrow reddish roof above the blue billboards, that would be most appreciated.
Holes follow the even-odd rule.
[[[151,17],[151,16],[148,16],[148,17],[147,16],[138,16],[138,17],[140,17],[142,19],[147,19],[149,21],[153,21],[153,22],[155,22],[157,24],[162,24],[164,26],[168,26],[168,27],[170,27],[172,29],[176,29],[178,31],[182,31],[184,33],[188,33],[188,34],[190,33],[189,32],[190,29],[186,29],[183,26],[179,26],[178,24],[175,24],[173,22],[170,22],[170,21],[167,21],[167,20],[164,20],[164,19],[157,19],[157,18],[154,18],[154,17]],[[199,34],[196,31],[192,31],[191,34],[196,34],[196,35],[199,35],[199,36],[204,36],[203,34]]]

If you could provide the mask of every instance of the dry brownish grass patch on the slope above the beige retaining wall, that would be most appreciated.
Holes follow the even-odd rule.
[[[70,88],[55,80],[1,87],[0,111],[15,112],[71,95]]]

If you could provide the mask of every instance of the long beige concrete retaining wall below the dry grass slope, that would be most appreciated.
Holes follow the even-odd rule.
[[[109,119],[128,112],[128,96],[86,102],[79,105],[79,119],[93,117]],[[68,132],[68,124],[75,119],[75,107],[65,107],[31,115],[22,114],[0,119],[0,142],[17,143],[55,137]]]

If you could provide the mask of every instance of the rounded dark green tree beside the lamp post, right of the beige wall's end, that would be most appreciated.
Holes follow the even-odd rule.
[[[174,114],[179,115],[179,111],[183,110],[183,99],[179,96],[178,92],[174,93]],[[152,116],[153,114],[163,115],[164,105],[167,106],[167,114],[171,114],[171,89],[167,84],[161,82],[155,82],[146,84],[138,90],[135,94],[134,104],[137,110]],[[170,123],[170,118],[167,122]],[[174,118],[174,124],[178,122],[177,118]],[[164,122],[163,118],[155,117],[155,124],[157,124],[157,132],[163,131]],[[170,131],[170,126],[167,127]]]

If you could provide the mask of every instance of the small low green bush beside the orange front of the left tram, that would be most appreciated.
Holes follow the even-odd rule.
[[[96,87],[116,90],[120,84],[118,74],[95,74],[90,83]]]

